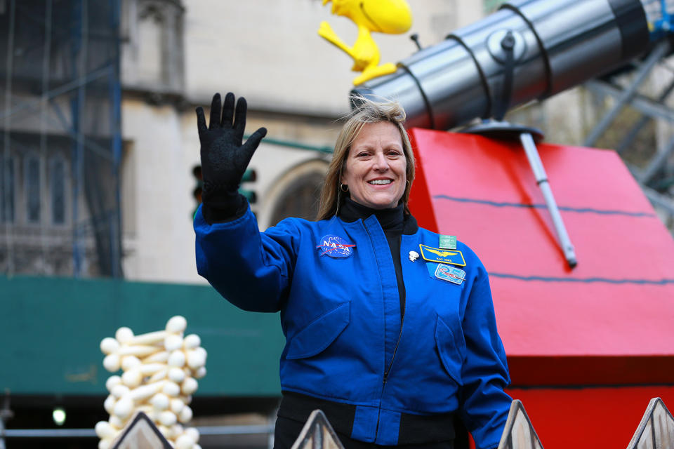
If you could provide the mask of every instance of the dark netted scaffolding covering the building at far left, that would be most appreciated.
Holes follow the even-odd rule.
[[[122,276],[119,14],[119,0],[0,0],[8,276]]]

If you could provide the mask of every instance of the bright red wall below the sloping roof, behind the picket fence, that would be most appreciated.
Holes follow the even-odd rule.
[[[509,389],[546,449],[626,448],[651,398],[674,410],[674,387]]]

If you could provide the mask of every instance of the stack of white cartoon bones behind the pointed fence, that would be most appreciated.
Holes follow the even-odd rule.
[[[110,447],[136,411],[150,417],[176,449],[201,449],[199,431],[183,424],[192,420],[188,404],[199,386],[197,379],[206,375],[206,349],[198,335],[183,337],[185,328],[187,320],[173,316],[166,330],[133,335],[131,329],[119,328],[114,338],[100,342],[105,369],[114,373],[121,368],[124,373],[105,382],[110,396],[103,406],[110,420],[96,424],[99,449]]]

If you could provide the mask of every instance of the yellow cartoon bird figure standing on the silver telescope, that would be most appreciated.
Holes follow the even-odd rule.
[[[391,62],[379,65],[379,48],[372,39],[371,32],[400,34],[412,25],[412,13],[405,0],[323,0],[332,1],[332,13],[350,18],[358,27],[358,38],[352,47],[346,45],[328,24],[321,22],[319,36],[334,46],[341,48],[353,58],[354,72],[362,72],[354,84],[395,72]]]

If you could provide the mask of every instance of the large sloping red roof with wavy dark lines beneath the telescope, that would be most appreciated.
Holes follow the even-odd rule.
[[[674,240],[615,152],[538,146],[576,248],[571,270],[519,145],[410,134],[412,211],[487,267],[513,382],[606,384],[607,361],[628,369],[607,373],[611,382],[663,382],[657,368],[674,365]]]

